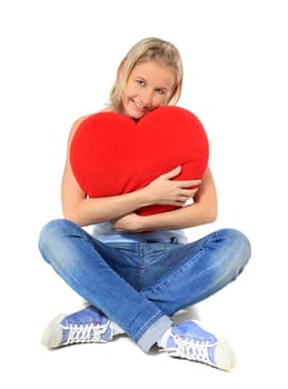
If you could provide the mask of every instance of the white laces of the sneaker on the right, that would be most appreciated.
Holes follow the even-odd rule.
[[[170,352],[173,357],[186,358],[207,365],[215,366],[209,357],[209,348],[217,346],[217,342],[209,343],[208,340],[193,340],[178,335],[171,335],[176,343],[175,347],[166,348],[163,351]]]

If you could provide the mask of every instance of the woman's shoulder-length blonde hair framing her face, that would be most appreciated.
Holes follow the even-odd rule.
[[[176,82],[166,104],[176,104],[178,102],[181,94],[183,79],[180,53],[172,43],[166,40],[159,38],[146,38],[140,40],[128,51],[118,68],[117,78],[111,88],[109,98],[109,108],[111,110],[121,111],[122,96],[131,71],[137,63],[147,61],[157,61],[173,71]]]

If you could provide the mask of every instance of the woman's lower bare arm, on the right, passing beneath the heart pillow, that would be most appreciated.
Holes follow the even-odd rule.
[[[193,203],[177,210],[151,216],[128,215],[115,220],[119,231],[161,231],[182,229],[213,222],[217,218],[217,193],[211,170],[208,168]]]

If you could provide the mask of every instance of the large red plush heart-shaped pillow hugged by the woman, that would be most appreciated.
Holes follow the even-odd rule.
[[[181,166],[177,180],[201,179],[209,144],[199,119],[180,107],[160,107],[139,121],[116,112],[99,112],[77,129],[70,161],[80,187],[90,198],[128,193]],[[150,206],[151,215],[175,209]]]

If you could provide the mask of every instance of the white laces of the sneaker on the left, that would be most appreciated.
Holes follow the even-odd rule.
[[[62,326],[63,330],[68,330],[68,339],[66,345],[71,343],[88,343],[88,342],[106,342],[102,339],[102,335],[106,333],[107,328],[109,327],[110,321],[106,325],[90,323],[90,325],[69,325]]]

